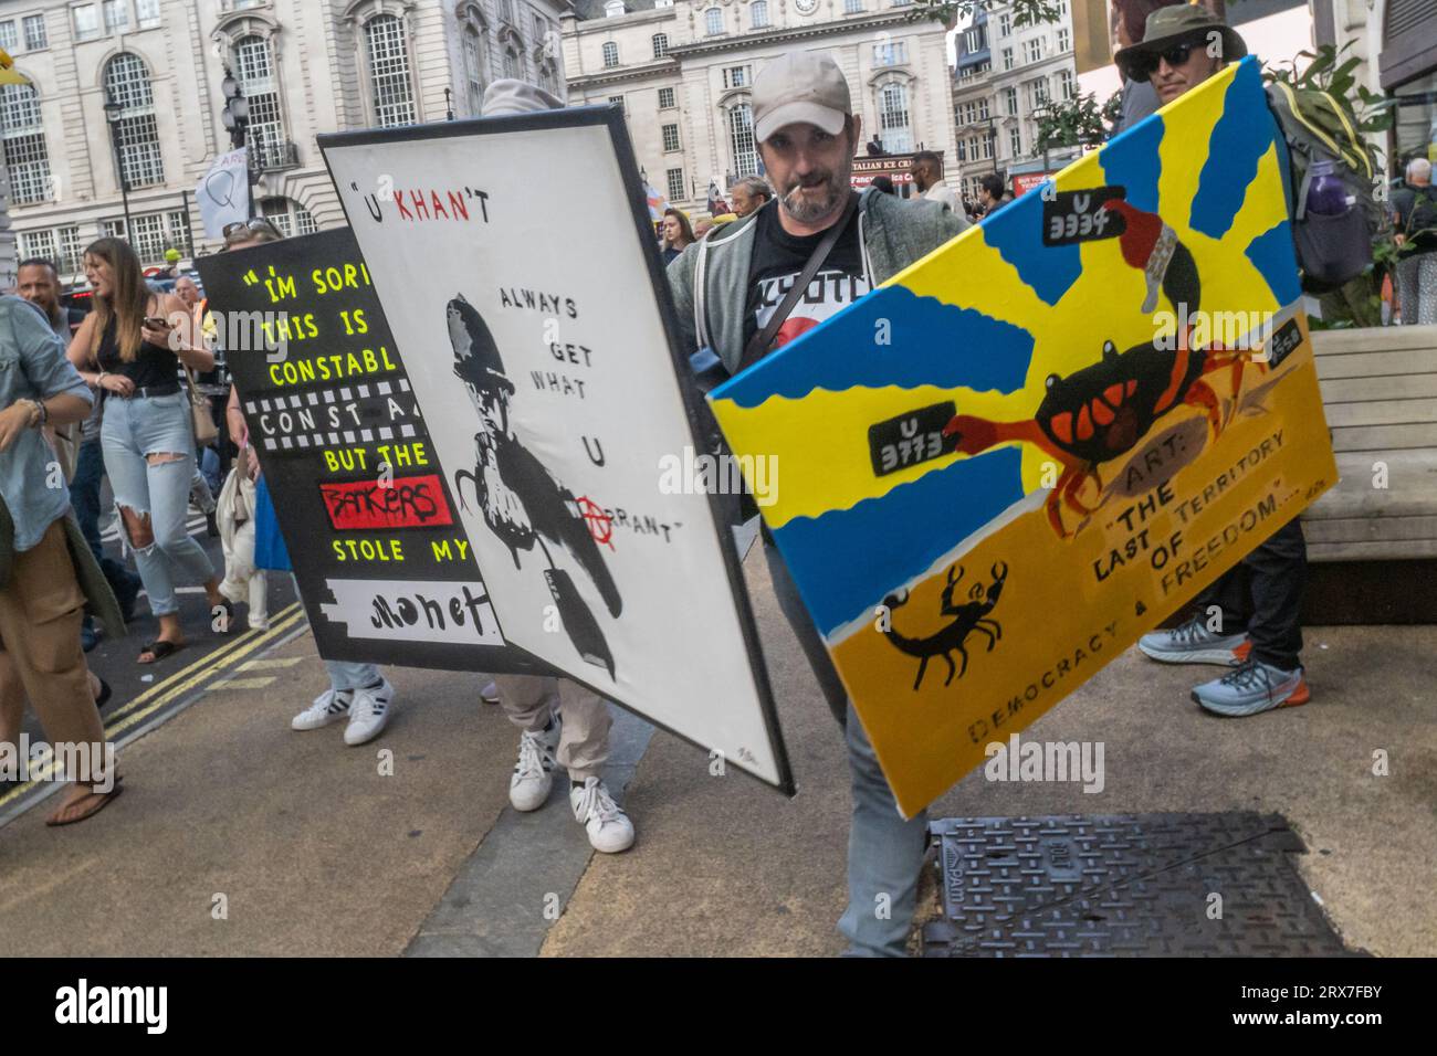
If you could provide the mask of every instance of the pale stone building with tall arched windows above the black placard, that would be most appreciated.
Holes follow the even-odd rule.
[[[72,277],[91,240],[125,231],[121,167],[147,264],[213,249],[193,190],[231,149],[226,72],[250,105],[256,213],[296,234],[339,224],[318,135],[474,116],[506,75],[562,98],[565,11],[566,0],[7,0],[0,47],[32,80],[0,91],[19,253]]]

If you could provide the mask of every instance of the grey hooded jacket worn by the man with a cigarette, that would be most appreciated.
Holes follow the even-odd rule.
[[[775,200],[763,208],[779,208]],[[684,351],[708,348],[731,374],[743,356],[749,266],[762,210],[688,246],[668,266]],[[858,203],[864,270],[877,287],[971,224],[937,201],[904,201],[868,188]]]

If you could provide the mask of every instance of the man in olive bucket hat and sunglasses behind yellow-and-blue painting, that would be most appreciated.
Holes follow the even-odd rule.
[[[1142,43],[1114,60],[1135,80],[1152,80],[1158,101],[1173,102],[1229,62],[1247,55],[1243,39],[1206,7],[1163,7],[1148,16]],[[1193,700],[1217,715],[1256,715],[1311,700],[1300,659],[1302,595],[1308,545],[1293,517],[1242,563],[1200,593],[1187,622],[1138,639],[1164,664],[1216,664],[1230,671],[1193,688]]]

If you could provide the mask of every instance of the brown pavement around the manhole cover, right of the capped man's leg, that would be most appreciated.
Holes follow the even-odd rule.
[[[1219,668],[1155,664],[1129,649],[1023,731],[1104,741],[1101,793],[990,782],[976,770],[934,816],[1279,813],[1306,843],[1295,863],[1349,948],[1431,957],[1437,628],[1318,626],[1303,636],[1312,703],[1250,718],[1210,715],[1190,700]]]

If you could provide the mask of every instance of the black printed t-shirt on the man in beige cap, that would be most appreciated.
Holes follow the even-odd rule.
[[[795,236],[779,221],[782,205],[770,201],[759,210],[754,231],[753,261],[749,264],[749,297],[743,313],[743,343],[767,325],[793,282],[808,264],[813,250],[828,231]],[[864,257],[858,246],[858,210],[848,218],[848,227],[833,244],[828,260],[813,276],[808,292],[799,297],[789,318],[779,328],[772,348],[782,348],[805,330],[818,326],[831,315],[848,307],[868,293]],[[772,349],[770,349],[772,351]]]

